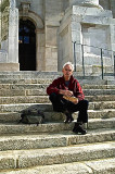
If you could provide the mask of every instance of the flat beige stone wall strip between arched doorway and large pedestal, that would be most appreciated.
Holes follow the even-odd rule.
[[[63,15],[62,0],[46,1],[46,71],[58,71],[58,29]]]

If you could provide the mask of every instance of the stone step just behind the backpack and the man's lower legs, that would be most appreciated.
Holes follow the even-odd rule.
[[[51,121],[64,121],[65,114],[61,112],[43,112],[46,116],[46,122]],[[73,114],[74,119],[78,116],[78,112]],[[115,116],[115,109],[104,109],[104,110],[88,110],[89,119],[111,119]],[[3,112],[0,113],[1,123],[13,123],[21,120],[21,113],[18,112]]]

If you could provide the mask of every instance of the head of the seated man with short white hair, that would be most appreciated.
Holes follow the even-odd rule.
[[[73,74],[73,71],[74,71],[74,65],[72,64],[72,62],[66,62],[64,65],[63,65],[63,75],[64,75],[64,78],[65,80],[69,80],[72,74]]]

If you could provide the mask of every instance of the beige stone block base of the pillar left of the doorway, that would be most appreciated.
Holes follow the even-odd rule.
[[[17,72],[20,71],[20,63],[0,63],[0,72]]]

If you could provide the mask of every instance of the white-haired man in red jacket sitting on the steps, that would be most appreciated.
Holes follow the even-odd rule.
[[[54,79],[47,88],[47,94],[52,102],[53,110],[66,115],[65,123],[74,121],[72,113],[79,111],[77,123],[73,128],[76,134],[85,135],[84,124],[88,123],[88,101],[85,100],[82,89],[73,76],[74,65],[67,62],[63,65],[63,76]]]

